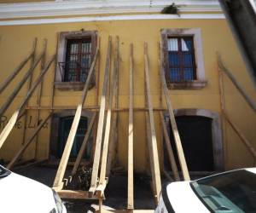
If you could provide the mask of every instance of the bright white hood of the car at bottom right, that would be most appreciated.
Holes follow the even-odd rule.
[[[207,213],[207,207],[201,203],[189,185],[189,181],[172,182],[166,188],[168,199],[175,212]]]

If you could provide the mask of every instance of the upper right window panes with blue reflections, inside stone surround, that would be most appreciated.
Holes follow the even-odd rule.
[[[170,82],[196,79],[195,49],[193,37],[168,37],[168,70]]]

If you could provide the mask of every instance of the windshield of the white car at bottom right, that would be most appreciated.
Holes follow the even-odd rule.
[[[256,175],[253,172],[236,170],[191,181],[190,186],[211,212],[256,212]]]

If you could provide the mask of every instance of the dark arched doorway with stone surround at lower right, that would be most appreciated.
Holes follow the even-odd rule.
[[[223,170],[223,143],[218,113],[204,109],[178,109],[174,111],[174,114],[189,171]],[[167,113],[166,124],[178,162],[177,149]],[[165,153],[165,164],[166,161]],[[179,165],[178,169],[180,170]]]

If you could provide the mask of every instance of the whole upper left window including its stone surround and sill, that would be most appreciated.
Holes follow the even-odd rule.
[[[58,66],[55,88],[63,91],[84,89],[97,47],[96,31],[60,32],[58,39]],[[89,89],[96,85],[96,69],[92,72]]]

